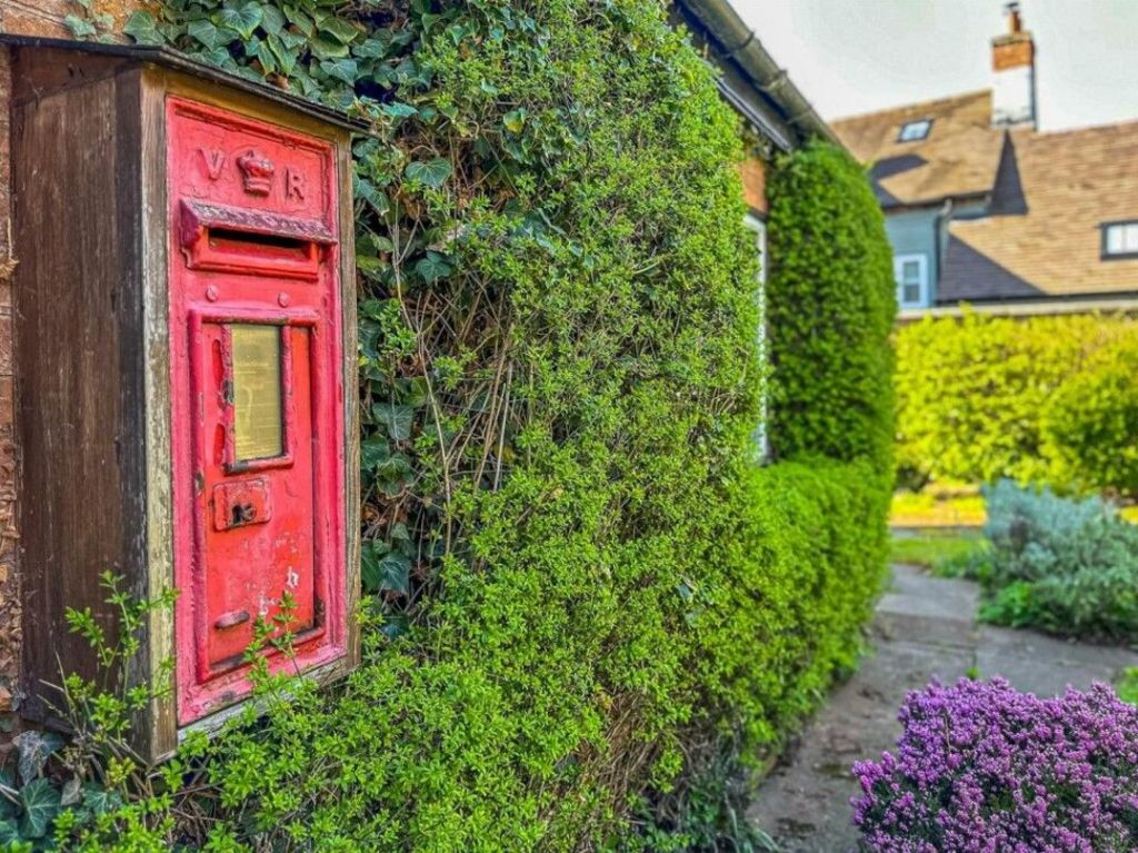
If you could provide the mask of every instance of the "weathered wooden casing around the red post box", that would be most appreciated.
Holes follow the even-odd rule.
[[[63,632],[64,609],[90,607],[114,631],[104,569],[154,598],[173,585],[171,352],[166,97],[176,95],[331,141],[340,204],[343,304],[346,655],[310,673],[332,679],[360,658],[358,419],[351,133],[360,128],[316,105],[163,49],[3,36],[13,55],[14,277],[18,494],[24,589],[25,712],[50,720],[39,696],[52,658],[94,676],[94,662]],[[36,126],[36,122],[42,126]],[[55,145],[46,134],[56,134]],[[90,142],[88,142],[90,140]],[[59,161],[59,162],[56,162]],[[66,186],[65,186],[66,184]],[[52,282],[59,293],[48,293]],[[116,371],[117,393],[79,385]],[[88,392],[91,388],[86,388]],[[104,389],[106,391],[106,389]],[[84,482],[74,484],[76,470]],[[94,482],[90,482],[93,479]],[[68,482],[73,486],[67,487]],[[173,659],[174,617],[152,610],[142,650],[123,674],[151,681]],[[55,669],[58,673],[58,667]],[[55,674],[55,673],[51,673]],[[134,747],[171,755],[179,730],[168,690],[135,721]]]

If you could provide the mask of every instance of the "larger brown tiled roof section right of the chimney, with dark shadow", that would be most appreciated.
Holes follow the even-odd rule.
[[[1100,257],[1102,223],[1138,220],[1138,121],[1006,137],[991,215],[949,224],[938,301],[1138,293],[1138,260]]]

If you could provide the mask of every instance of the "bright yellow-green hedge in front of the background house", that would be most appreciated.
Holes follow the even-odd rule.
[[[1138,491],[1131,318],[926,318],[898,331],[897,350],[907,482]]]

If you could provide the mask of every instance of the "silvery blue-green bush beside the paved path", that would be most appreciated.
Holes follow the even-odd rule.
[[[1138,526],[1098,498],[1004,481],[989,491],[981,617],[1064,637],[1138,640]]]

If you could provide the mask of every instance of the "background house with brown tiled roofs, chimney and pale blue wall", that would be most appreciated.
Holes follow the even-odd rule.
[[[869,164],[901,319],[1138,309],[1138,121],[1038,130],[1016,3],[992,88],[833,122]]]

